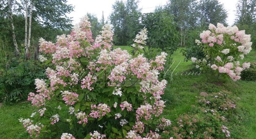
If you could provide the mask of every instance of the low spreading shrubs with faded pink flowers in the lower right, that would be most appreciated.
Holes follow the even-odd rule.
[[[179,116],[163,137],[171,139],[224,139],[231,133],[226,123],[234,118],[236,105],[229,92],[216,92],[197,97],[199,106],[192,105],[191,112]]]

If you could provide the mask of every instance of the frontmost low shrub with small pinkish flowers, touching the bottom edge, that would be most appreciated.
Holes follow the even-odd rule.
[[[172,125],[171,139],[224,139],[230,136],[225,122],[217,112],[180,115]]]

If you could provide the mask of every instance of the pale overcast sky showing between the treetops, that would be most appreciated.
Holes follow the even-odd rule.
[[[74,11],[68,16],[73,17],[73,24],[79,22],[80,18],[86,13],[93,13],[99,19],[104,11],[105,19],[112,12],[112,5],[116,0],[68,0],[68,4],[74,6]],[[123,0],[125,1],[125,0]],[[140,0],[139,8],[142,8],[142,13],[147,13],[155,10],[156,6],[165,5],[168,0]],[[224,7],[228,11],[228,24],[232,25],[235,19],[235,10],[238,0],[219,0],[224,4]]]

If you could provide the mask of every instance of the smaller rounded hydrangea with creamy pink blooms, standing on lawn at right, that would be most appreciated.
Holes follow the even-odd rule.
[[[198,47],[203,48],[205,57],[202,59],[191,58],[196,63],[196,68],[211,72],[217,76],[227,75],[233,81],[241,78],[243,70],[250,67],[250,63],[240,63],[251,51],[251,35],[240,31],[237,26],[223,26],[218,23],[217,27],[209,25],[209,30],[200,34],[200,40],[196,40]]]

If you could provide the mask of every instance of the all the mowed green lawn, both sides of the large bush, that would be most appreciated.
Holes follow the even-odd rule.
[[[114,46],[131,52],[130,46]],[[181,48],[180,48],[181,49]],[[191,61],[184,62],[184,57],[180,49],[172,55],[173,61],[180,62],[173,73],[173,80],[168,81],[168,85],[163,95],[166,101],[166,108],[163,116],[175,121],[180,114],[192,113],[191,106],[196,105],[196,96],[200,92],[229,91],[237,99],[237,115],[229,119],[227,123],[231,138],[234,139],[255,139],[256,136],[256,82],[254,81],[231,81],[221,79],[216,82],[207,74],[200,75],[180,75],[175,73],[187,71],[193,68]],[[256,61],[256,50],[253,50],[243,61]],[[18,119],[29,118],[36,108],[29,102],[16,105],[3,105],[0,107],[0,139],[30,139]]]

